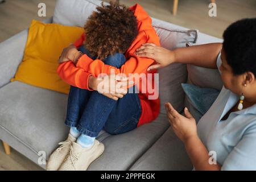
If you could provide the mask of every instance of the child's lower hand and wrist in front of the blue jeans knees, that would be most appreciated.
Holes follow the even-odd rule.
[[[126,76],[106,75],[104,77],[89,77],[89,88],[97,90],[102,95],[117,101],[127,94],[127,88],[133,85]]]

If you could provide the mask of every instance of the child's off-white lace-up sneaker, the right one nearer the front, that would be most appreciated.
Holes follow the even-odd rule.
[[[90,164],[103,154],[104,150],[104,144],[98,140],[94,140],[92,147],[88,148],[82,148],[80,144],[73,142],[59,171],[86,171]]]

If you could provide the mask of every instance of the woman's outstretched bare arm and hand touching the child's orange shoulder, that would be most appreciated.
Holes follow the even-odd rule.
[[[149,57],[159,64],[152,65],[149,69],[165,67],[172,63],[193,64],[199,67],[217,68],[216,59],[220,53],[222,43],[202,44],[177,48],[173,51],[155,44],[147,43],[137,49],[136,55]]]

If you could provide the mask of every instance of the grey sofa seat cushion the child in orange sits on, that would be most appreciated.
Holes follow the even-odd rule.
[[[64,125],[66,94],[14,81],[0,89],[0,100],[1,129],[35,154],[45,151],[48,159],[57,144],[67,138],[69,127]],[[110,135],[102,130],[97,139],[106,149],[90,169],[129,168],[167,128],[167,118],[162,114],[154,122],[129,133]]]

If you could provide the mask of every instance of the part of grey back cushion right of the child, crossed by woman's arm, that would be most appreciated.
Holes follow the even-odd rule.
[[[171,23],[152,18],[152,24],[160,38],[161,46],[167,49],[184,47],[186,43],[196,43],[197,30],[177,29]],[[165,102],[171,102],[177,111],[183,110],[184,91],[181,83],[187,81],[185,64],[171,64],[158,70],[161,113],[166,113]]]

